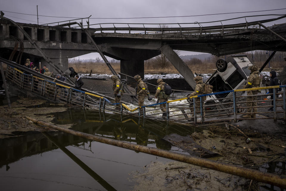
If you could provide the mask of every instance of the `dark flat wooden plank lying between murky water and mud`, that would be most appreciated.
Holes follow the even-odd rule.
[[[165,136],[163,139],[186,151],[192,156],[198,156],[201,158],[219,156],[218,153],[213,153],[212,151],[198,145],[189,135],[183,137],[177,134],[170,134]]]

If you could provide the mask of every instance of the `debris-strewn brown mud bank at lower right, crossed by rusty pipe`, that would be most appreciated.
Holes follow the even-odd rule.
[[[236,128],[224,126],[209,126],[190,137],[198,145],[220,155],[209,159],[285,176],[285,136],[278,138],[275,134],[253,129],[242,132],[251,138],[250,143],[246,143],[247,137]],[[184,146],[193,147],[186,142]],[[150,187],[152,190],[280,190],[269,184],[177,161],[152,161],[143,172],[130,175],[137,183],[134,190]]]

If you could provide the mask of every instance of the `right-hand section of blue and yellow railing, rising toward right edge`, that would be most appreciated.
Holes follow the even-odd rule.
[[[282,92],[276,93],[278,88],[282,88]],[[150,117],[153,115],[166,113],[166,118],[169,121],[192,121],[187,123],[204,123],[204,122],[217,122],[217,121],[237,121],[237,120],[249,120],[249,119],[283,119],[286,121],[286,111],[285,111],[285,88],[286,85],[282,86],[270,86],[270,87],[260,87],[260,88],[248,88],[248,89],[240,89],[240,90],[230,90],[224,92],[210,93],[205,95],[191,96],[189,98],[181,98],[171,101],[165,101],[158,104],[150,104],[142,107],[137,107],[130,111],[138,110],[138,115],[143,117]],[[258,95],[241,95],[237,96],[237,93],[243,91],[251,91],[251,90],[262,90],[262,89],[273,89],[273,93],[267,94],[258,94]],[[228,94],[227,97],[224,98],[216,98],[210,100],[204,100],[204,97],[212,96],[212,95],[223,95]],[[261,99],[252,100],[253,97],[259,97]],[[271,96],[271,99],[265,98],[266,96]],[[182,104],[172,104],[178,101],[183,101],[187,99],[192,99],[190,103],[182,103]],[[226,100],[221,102],[222,100]],[[246,100],[246,101],[245,101]],[[267,102],[272,102],[273,105],[267,104]],[[255,104],[252,104],[255,103]],[[257,103],[261,104],[257,106]],[[154,109],[156,105],[166,106],[161,108]],[[265,108],[273,107],[273,110],[266,110]],[[277,110],[278,108],[282,108],[282,110]],[[251,109],[251,111],[247,111]],[[142,111],[143,110],[143,111]],[[155,112],[158,110],[166,110],[166,112]],[[256,111],[257,110],[257,111]],[[141,112],[140,112],[141,111]],[[180,113],[182,112],[182,113]],[[238,115],[247,115],[248,118],[240,117]],[[256,114],[255,118],[250,117],[251,114]],[[271,115],[264,116],[261,114]],[[273,115],[273,116],[272,116]],[[162,118],[155,117],[155,119]]]

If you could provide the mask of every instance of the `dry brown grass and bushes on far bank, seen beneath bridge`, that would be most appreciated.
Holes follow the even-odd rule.
[[[270,52],[267,51],[253,51],[253,53],[238,53],[246,54],[249,60],[253,64],[257,64],[258,67],[261,67],[267,58],[270,56]],[[226,56],[210,56],[208,59],[200,60],[198,58],[192,58],[189,60],[184,60],[187,66],[192,70],[193,73],[213,73],[216,70],[215,63],[219,58],[227,58],[231,55]],[[275,56],[271,59],[270,65],[267,65],[264,71],[271,70],[268,68],[272,67],[272,70],[276,70],[285,65],[284,58],[286,57],[285,53],[277,52]],[[286,58],[285,58],[286,59]],[[120,72],[120,61],[112,60],[111,66],[116,72]],[[69,67],[73,67],[78,73],[98,73],[98,74],[110,74],[109,68],[105,63],[102,62],[99,58],[97,60],[89,61],[80,61],[80,60],[70,60]],[[144,62],[144,73],[179,73],[175,67],[168,61],[164,55],[159,55],[157,57],[151,58]]]

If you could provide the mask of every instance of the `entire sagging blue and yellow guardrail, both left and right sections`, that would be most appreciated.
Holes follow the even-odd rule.
[[[109,99],[96,95],[93,93],[84,92],[81,90],[74,89],[72,87],[49,81],[43,78],[40,78],[35,75],[27,74],[18,70],[15,67],[7,65],[6,78],[10,82],[18,85],[21,89],[32,91],[39,96],[49,98],[53,101],[59,101],[64,104],[75,104],[83,108],[88,109],[98,109],[100,112],[114,112],[127,115],[138,115],[143,118],[153,118],[159,119],[162,118],[161,114],[166,113],[166,120],[168,121],[178,121],[181,123],[209,123],[216,121],[237,121],[237,120],[249,120],[249,119],[283,119],[286,121],[286,111],[285,111],[285,90],[286,85],[282,86],[270,86],[270,87],[260,87],[260,88],[249,88],[249,89],[240,89],[240,90],[229,90],[224,92],[216,92],[205,95],[191,96],[189,99],[192,99],[192,102],[184,102],[188,98],[180,98],[170,101],[164,101],[158,104],[150,104],[141,107],[136,107],[131,109],[127,104],[124,103],[112,103]],[[276,89],[281,87],[282,92],[276,93]],[[242,91],[248,90],[259,90],[259,89],[270,89],[273,88],[273,94],[259,94],[252,96],[273,96],[273,99],[263,100],[263,102],[273,101],[273,105],[264,105],[256,106],[259,110],[265,107],[273,107],[273,111],[258,111],[255,114],[259,114],[258,118],[240,118],[239,114],[252,114],[247,113],[244,110],[250,107],[245,106],[244,104],[250,102],[261,102],[261,100],[256,101],[245,101],[246,97],[252,96],[243,96],[238,95]],[[217,98],[213,99],[211,103],[209,100],[203,101],[204,96],[218,95],[228,93],[227,102],[220,102],[222,99],[226,98]],[[282,97],[278,97],[282,95]],[[183,101],[183,102],[182,102]],[[180,102],[180,103],[176,103]],[[166,106],[164,106],[166,104]],[[154,108],[156,105],[159,105],[160,108]],[[115,106],[115,108],[114,108]],[[117,107],[117,110],[116,110]],[[277,108],[282,107],[282,110],[277,110]],[[120,108],[120,110],[119,110]],[[161,112],[159,110],[166,109],[166,112]],[[272,115],[273,117],[265,117],[261,114]],[[281,114],[283,116],[281,116]],[[160,116],[158,116],[160,115]],[[223,118],[222,118],[223,117]],[[186,122],[186,120],[192,120]]]

